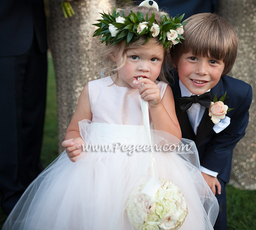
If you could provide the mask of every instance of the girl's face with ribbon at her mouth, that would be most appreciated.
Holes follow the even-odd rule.
[[[121,65],[121,53],[112,56],[117,67]],[[149,78],[155,81],[160,74],[164,61],[164,48],[158,43],[147,42],[138,48],[126,50],[126,62],[117,72],[116,85],[122,87],[135,88],[132,81],[138,77]]]

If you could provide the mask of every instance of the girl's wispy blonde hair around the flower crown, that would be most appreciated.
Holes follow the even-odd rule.
[[[140,11],[143,13],[144,17],[146,17],[146,15],[148,13],[149,18],[154,12],[155,19],[157,22],[160,21],[160,18],[163,14],[167,14],[164,11],[157,11],[155,8],[149,8],[149,7],[143,7],[143,6],[142,7],[128,6],[123,11],[124,11],[125,16],[129,15],[131,13],[131,11],[135,12],[135,14],[138,11]],[[137,40],[135,42],[130,42],[128,45],[125,44],[125,41],[121,41],[114,45],[100,47],[98,52],[100,53],[100,56],[101,56],[101,65],[102,66],[101,66],[101,70],[98,71],[97,73],[102,75],[102,73],[104,72],[104,77],[109,76],[113,73],[116,73],[117,70],[120,69],[122,66],[124,66],[124,64],[126,62],[127,49],[142,47],[145,41],[146,41],[146,37],[142,35],[139,38],[139,40]],[[147,44],[161,45],[158,38],[151,38],[147,42]],[[121,60],[120,60],[121,65],[118,67],[116,66],[116,62],[114,62],[110,58],[111,55],[113,55],[114,53],[117,53],[117,52],[122,53]],[[169,63],[169,49],[168,49],[164,53],[164,62],[162,64],[160,75],[159,75],[159,79],[161,81],[168,83],[167,77],[171,77],[171,74],[169,74],[169,71],[167,71],[169,69],[170,69],[170,63]]]

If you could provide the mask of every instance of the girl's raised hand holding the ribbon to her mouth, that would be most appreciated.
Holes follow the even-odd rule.
[[[160,90],[157,84],[148,78],[137,80],[134,78],[132,82],[135,88],[139,89],[139,94],[144,101],[149,102],[150,107],[157,107],[161,103]],[[142,86],[141,84],[144,83]]]

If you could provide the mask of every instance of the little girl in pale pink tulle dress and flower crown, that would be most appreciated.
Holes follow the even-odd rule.
[[[119,12],[114,11],[112,18],[104,14],[104,22],[117,23],[107,23],[109,30],[99,28],[109,33],[102,41],[108,53],[105,73],[110,69],[110,75],[85,86],[62,143],[66,151],[29,186],[4,229],[134,229],[125,211],[126,201],[134,186],[149,175],[151,163],[149,152],[132,148],[146,143],[140,98],[149,104],[150,125],[160,130],[155,131],[157,142],[170,146],[181,139],[171,88],[156,81],[158,76],[164,79],[167,48],[179,39],[168,40],[169,34],[166,40],[160,39],[163,12],[148,7]],[[155,17],[155,29],[138,23],[146,20],[142,15],[148,23]],[[121,24],[128,28],[127,23],[136,20],[138,26],[131,38]],[[87,149],[83,151],[83,147]],[[154,153],[158,176],[175,183],[184,194],[189,214],[180,229],[213,229],[218,205],[194,166],[199,164],[198,157],[181,155]],[[194,159],[193,164],[185,158]],[[171,229],[170,223],[166,220],[162,229]]]

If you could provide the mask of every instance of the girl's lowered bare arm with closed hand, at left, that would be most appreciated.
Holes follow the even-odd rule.
[[[65,141],[62,146],[65,147],[67,156],[73,162],[76,161],[83,148],[77,148],[77,145],[85,144],[79,133],[78,121],[83,119],[92,120],[92,112],[89,101],[88,84],[82,90],[78,99],[76,111],[67,127]]]

